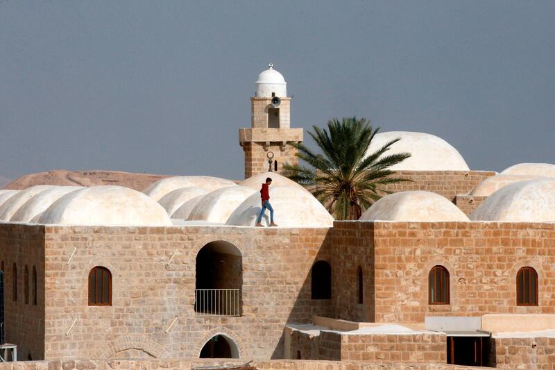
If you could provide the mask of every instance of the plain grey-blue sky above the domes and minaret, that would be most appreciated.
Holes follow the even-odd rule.
[[[268,62],[305,137],[355,115],[442,137],[470,169],[555,163],[554,17],[521,0],[0,1],[0,176],[240,179]]]

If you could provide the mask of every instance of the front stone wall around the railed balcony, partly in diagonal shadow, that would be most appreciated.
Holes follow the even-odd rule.
[[[332,314],[331,301],[310,296],[313,262],[330,260],[328,228],[46,226],[45,233],[47,360],[198,358],[216,334],[232,339],[241,358],[281,358],[286,323]],[[194,312],[196,255],[217,240],[241,252],[241,317]],[[111,271],[111,306],[87,305],[95,266]]]

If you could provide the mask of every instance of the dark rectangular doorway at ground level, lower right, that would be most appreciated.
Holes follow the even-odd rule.
[[[447,364],[487,366],[489,337],[447,337]]]

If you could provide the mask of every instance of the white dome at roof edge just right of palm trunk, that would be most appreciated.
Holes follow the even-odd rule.
[[[469,221],[468,217],[447,198],[421,190],[388,194],[374,203],[361,221]]]

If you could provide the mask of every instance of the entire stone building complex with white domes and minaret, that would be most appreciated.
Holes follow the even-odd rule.
[[[256,161],[245,151],[246,180],[0,190],[0,334],[19,359],[47,361],[29,369],[199,358],[263,369],[553,369],[555,166],[470,171],[434,135],[382,133],[375,144],[402,137],[408,147],[394,150],[418,158],[396,168],[413,181],[359,221],[334,221],[262,165],[274,151],[279,172],[293,160],[280,145],[302,140],[300,129],[286,140],[284,79],[268,71],[251,100],[253,127],[241,129],[259,135],[243,142],[259,150]],[[257,228],[268,176],[280,227]],[[300,361],[268,362],[284,359]]]

